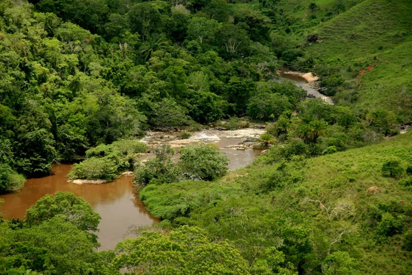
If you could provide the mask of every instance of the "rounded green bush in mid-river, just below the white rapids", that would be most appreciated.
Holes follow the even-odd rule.
[[[214,180],[227,172],[229,159],[216,145],[198,144],[181,148],[179,166],[189,179]]]

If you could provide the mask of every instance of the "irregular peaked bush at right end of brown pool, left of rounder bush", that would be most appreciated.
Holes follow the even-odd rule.
[[[135,183],[146,184],[170,184],[179,179],[179,170],[172,162],[174,151],[170,145],[156,148],[156,157],[148,159],[144,164],[137,166],[135,170]]]

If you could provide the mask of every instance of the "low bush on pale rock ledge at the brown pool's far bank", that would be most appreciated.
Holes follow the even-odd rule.
[[[70,179],[106,179],[112,180],[117,175],[117,164],[108,157],[91,157],[74,164],[67,177]]]

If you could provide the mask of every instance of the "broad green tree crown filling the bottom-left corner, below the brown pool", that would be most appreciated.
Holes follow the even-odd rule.
[[[93,266],[93,241],[68,220],[67,215],[57,214],[16,230],[10,251],[14,259],[44,274],[86,274]]]

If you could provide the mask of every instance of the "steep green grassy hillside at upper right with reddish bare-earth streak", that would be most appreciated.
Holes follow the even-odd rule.
[[[400,122],[412,120],[411,14],[407,0],[367,0],[310,30],[324,40],[306,48],[319,73],[347,80],[337,102],[353,102],[363,115],[384,107]]]

